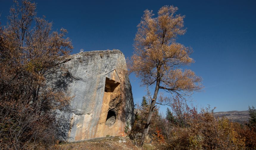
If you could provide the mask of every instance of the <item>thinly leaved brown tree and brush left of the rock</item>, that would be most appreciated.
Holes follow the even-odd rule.
[[[35,3],[15,3],[0,27],[0,147],[47,148],[60,124],[56,110],[70,101],[47,81],[72,45],[65,29],[52,32],[51,23],[36,17]]]

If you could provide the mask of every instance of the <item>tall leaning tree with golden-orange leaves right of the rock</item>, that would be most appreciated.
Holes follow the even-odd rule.
[[[182,71],[180,68],[190,65],[194,60],[189,57],[192,49],[175,41],[178,35],[186,32],[183,28],[185,16],[176,15],[177,10],[174,6],[163,6],[155,18],[152,10],[145,10],[137,26],[135,51],[128,60],[128,68],[141,79],[142,85],[155,86],[140,146],[149,131],[159,89],[171,93],[172,97],[180,98],[202,89],[200,77],[191,70]],[[162,99],[157,103],[168,104],[168,101]]]

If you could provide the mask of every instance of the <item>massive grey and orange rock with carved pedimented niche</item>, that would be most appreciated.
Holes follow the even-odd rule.
[[[68,74],[52,84],[73,99],[68,110],[58,112],[63,122],[61,137],[77,141],[126,135],[134,104],[124,54],[119,50],[82,52],[72,55],[63,67]]]

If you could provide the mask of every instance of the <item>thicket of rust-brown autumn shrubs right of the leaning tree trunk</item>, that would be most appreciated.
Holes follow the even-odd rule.
[[[176,104],[171,108],[178,123],[161,118],[158,127],[165,142],[160,149],[255,149],[255,130],[248,126],[215,118],[210,107],[197,112],[182,100],[173,103]]]

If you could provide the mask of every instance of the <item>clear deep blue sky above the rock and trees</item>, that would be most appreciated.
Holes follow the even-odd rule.
[[[174,5],[186,15],[187,33],[177,42],[191,46],[196,61],[187,68],[202,76],[205,89],[190,99],[199,107],[216,111],[247,110],[256,106],[256,1],[64,1],[36,0],[38,16],[53,21],[53,30],[68,30],[74,49],[119,49],[133,52],[136,26],[143,11],[155,14],[163,5]],[[12,0],[0,0],[0,21],[6,23]],[[134,102],[146,94],[130,76]],[[165,112],[166,107],[161,107]]]

